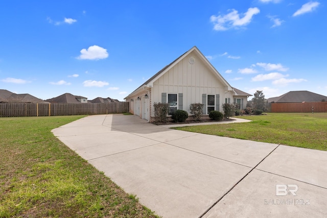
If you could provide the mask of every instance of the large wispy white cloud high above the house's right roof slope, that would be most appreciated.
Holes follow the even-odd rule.
[[[251,22],[252,17],[259,13],[259,8],[249,8],[247,12],[241,14],[243,17],[240,18],[239,12],[235,9],[231,9],[231,12],[226,15],[212,15],[210,20],[214,24],[214,30],[225,31],[233,27],[248,25]]]

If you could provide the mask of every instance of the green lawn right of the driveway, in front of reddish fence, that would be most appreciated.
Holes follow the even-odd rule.
[[[327,113],[268,113],[239,118],[253,122],[173,129],[327,151]]]

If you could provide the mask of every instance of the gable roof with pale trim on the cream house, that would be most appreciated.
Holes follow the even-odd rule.
[[[202,61],[209,69],[211,69],[211,71],[215,74],[216,78],[218,80],[220,80],[222,82],[222,84],[224,84],[225,87],[227,87],[228,90],[232,90],[232,87],[219,74],[219,72],[217,71],[217,69],[205,58],[205,56],[200,52],[200,50],[196,46],[193,46],[192,49],[190,49],[189,51],[185,52],[184,54],[182,54],[181,56],[179,56],[178,58],[176,58],[173,62],[171,62],[170,64],[168,64],[167,66],[165,66],[164,68],[162,68],[161,70],[159,70],[155,75],[153,75],[145,83],[143,83],[141,86],[139,86],[138,88],[136,88],[132,93],[130,93],[128,96],[126,96],[125,99],[127,99],[133,93],[136,93],[136,92],[138,92],[140,90],[143,90],[146,87],[152,87],[153,86],[153,83],[158,78],[160,78],[162,75],[164,75],[167,71],[169,71],[172,67],[174,67],[179,61],[181,61],[184,57],[188,56],[192,52],[195,52],[195,54],[200,59],[200,61]]]

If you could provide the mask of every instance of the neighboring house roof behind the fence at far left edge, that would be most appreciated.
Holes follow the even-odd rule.
[[[30,94],[16,94],[6,89],[0,89],[0,103],[40,103],[46,104],[41,99],[38,99]]]

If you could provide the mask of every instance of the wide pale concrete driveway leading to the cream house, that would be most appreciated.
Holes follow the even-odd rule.
[[[53,133],[162,217],[327,216],[324,151],[172,130],[122,114],[87,116]]]

